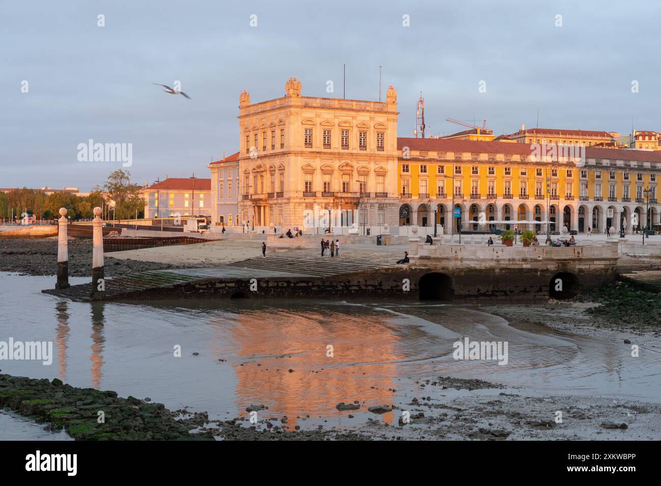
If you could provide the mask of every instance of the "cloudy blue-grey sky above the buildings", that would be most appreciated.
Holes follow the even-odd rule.
[[[243,89],[266,101],[296,76],[303,96],[341,98],[345,63],[348,99],[377,101],[382,67],[400,137],[413,136],[420,92],[428,136],[463,130],[446,118],[486,120],[494,134],[661,130],[658,1],[0,6],[0,187],[87,191],[120,168],[140,184],[210,177],[206,165],[238,149]],[[152,84],[175,81],[190,100]],[[79,161],[90,139],[132,144],[132,165]]]

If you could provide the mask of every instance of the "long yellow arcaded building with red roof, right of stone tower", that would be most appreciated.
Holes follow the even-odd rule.
[[[541,157],[525,143],[399,138],[398,145],[400,225],[433,226],[436,210],[437,223],[449,233],[453,194],[462,231],[488,231],[486,224],[470,223],[481,214],[486,221],[545,221],[547,206],[551,231],[561,225],[619,231],[622,220],[628,231],[634,212],[639,227],[646,226],[647,195],[650,225],[659,222],[659,151],[585,147],[572,154],[584,153],[583,165],[562,151]],[[535,226],[529,229],[545,229]]]

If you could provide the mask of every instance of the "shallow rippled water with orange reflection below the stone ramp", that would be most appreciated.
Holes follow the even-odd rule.
[[[332,296],[84,304],[42,294],[54,280],[0,273],[0,341],[53,341],[54,352],[50,366],[0,361],[3,372],[150,397],[169,409],[208,411],[212,419],[245,416],[248,405],[263,404],[264,417],[286,415],[291,427],[303,428],[346,423],[346,413],[335,409],[340,401],[397,404],[404,395],[431,394],[414,381],[435,376],[545,395],[661,402],[658,352],[642,349],[632,358],[627,344],[537,325],[516,329],[477,307]],[[454,360],[453,343],[464,337],[507,341],[508,363]],[[305,415],[310,419],[295,419]],[[367,415],[356,413],[356,420]],[[7,427],[10,436],[23,433],[16,417],[0,421],[17,424]]]

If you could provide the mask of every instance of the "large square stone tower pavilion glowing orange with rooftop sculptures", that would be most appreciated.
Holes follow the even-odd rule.
[[[334,226],[397,224],[397,93],[387,101],[301,96],[239,99],[241,221],[303,226],[306,210],[338,214]]]

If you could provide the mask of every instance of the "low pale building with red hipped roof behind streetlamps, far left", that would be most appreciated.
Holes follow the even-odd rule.
[[[169,177],[140,190],[145,200],[145,218],[211,216],[211,179]]]

